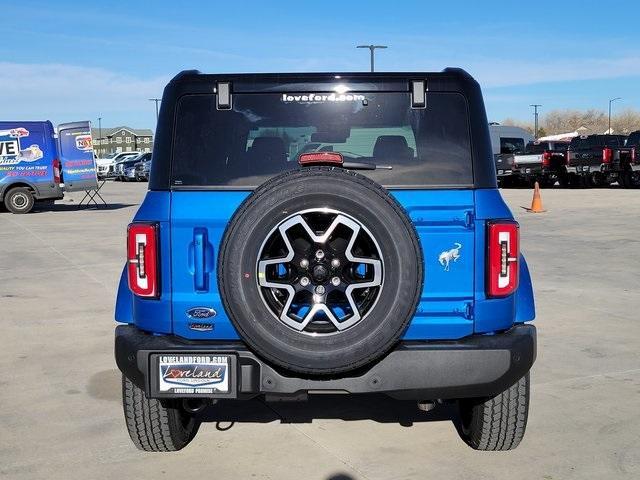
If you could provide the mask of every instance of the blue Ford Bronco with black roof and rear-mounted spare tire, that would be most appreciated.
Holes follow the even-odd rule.
[[[453,404],[479,450],[524,435],[531,279],[463,70],[180,73],[127,255],[115,356],[142,450],[183,448],[220,399],[317,393]]]

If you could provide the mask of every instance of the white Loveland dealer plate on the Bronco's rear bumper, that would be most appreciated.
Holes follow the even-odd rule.
[[[228,355],[158,355],[158,391],[180,395],[229,393],[231,363]]]

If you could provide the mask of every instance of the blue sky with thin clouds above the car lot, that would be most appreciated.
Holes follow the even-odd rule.
[[[380,71],[460,66],[490,120],[554,108],[640,109],[640,2],[5,2],[3,119],[151,127],[147,99],[185,68]]]

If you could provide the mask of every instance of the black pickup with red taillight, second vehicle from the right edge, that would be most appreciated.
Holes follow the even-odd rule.
[[[624,135],[581,135],[567,149],[569,183],[579,187],[610,185],[631,158]]]

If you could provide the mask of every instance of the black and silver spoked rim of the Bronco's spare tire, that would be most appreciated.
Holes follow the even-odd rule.
[[[257,283],[269,311],[305,335],[335,335],[363,321],[383,288],[382,250],[352,216],[329,208],[294,213],[266,236]]]

